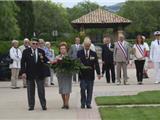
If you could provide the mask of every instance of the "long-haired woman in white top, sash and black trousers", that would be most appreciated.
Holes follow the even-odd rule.
[[[141,35],[137,35],[135,44],[133,45],[133,51],[135,55],[136,76],[139,85],[143,82],[143,69],[145,63],[145,46],[143,44],[143,38]]]

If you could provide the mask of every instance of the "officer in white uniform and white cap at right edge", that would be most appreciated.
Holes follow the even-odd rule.
[[[155,40],[151,43],[150,59],[154,63],[155,84],[160,83],[160,31],[154,32]]]

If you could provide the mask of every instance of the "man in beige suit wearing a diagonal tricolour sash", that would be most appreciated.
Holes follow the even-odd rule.
[[[113,58],[117,65],[117,85],[121,84],[121,68],[123,70],[123,83],[127,82],[127,64],[129,63],[129,45],[126,42],[124,35],[118,36],[118,41],[114,45]]]

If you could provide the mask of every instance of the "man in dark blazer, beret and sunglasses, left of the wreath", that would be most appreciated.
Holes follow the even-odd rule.
[[[35,83],[37,84],[42,109],[47,110],[44,89],[45,62],[47,62],[47,58],[44,51],[38,48],[37,40],[33,39],[31,48],[23,51],[21,60],[22,77],[27,80],[29,111],[34,110],[35,106]]]

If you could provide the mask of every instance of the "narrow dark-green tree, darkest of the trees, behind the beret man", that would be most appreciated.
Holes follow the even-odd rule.
[[[32,1],[16,1],[20,11],[17,15],[18,25],[21,29],[21,38],[31,38],[34,32],[34,11]]]

